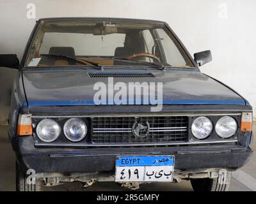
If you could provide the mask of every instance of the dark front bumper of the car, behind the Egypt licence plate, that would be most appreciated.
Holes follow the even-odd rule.
[[[175,156],[175,171],[226,168],[236,170],[248,162],[253,151],[240,145],[116,148],[35,148],[33,137],[17,140],[17,159],[24,170],[36,173],[86,173],[115,171],[115,157]]]

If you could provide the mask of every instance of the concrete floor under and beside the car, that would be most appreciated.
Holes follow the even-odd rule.
[[[256,126],[253,126],[256,128]],[[256,133],[256,129],[254,129]],[[256,139],[252,145],[256,151]],[[0,126],[0,191],[15,191],[15,154],[12,151],[6,127]],[[45,187],[45,191],[129,191],[115,182],[98,182],[84,188],[79,182]],[[189,181],[179,184],[141,184],[140,191],[193,191]],[[233,173],[230,191],[256,191],[256,154],[246,166]]]

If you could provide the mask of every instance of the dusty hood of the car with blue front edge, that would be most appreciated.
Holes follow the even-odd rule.
[[[86,69],[23,71],[24,90],[28,105],[94,105],[93,96],[98,91],[93,90],[93,85],[103,82],[108,86],[109,78],[92,78],[88,75],[91,72]],[[93,73],[97,72],[107,73],[108,71],[93,71]],[[122,71],[122,73],[124,72]],[[146,82],[148,84],[162,82],[163,104],[166,105],[245,104],[244,99],[236,92],[199,71],[132,71],[132,73],[138,72],[152,73],[154,77],[113,78],[113,82],[114,84],[124,82],[123,85],[127,85],[127,87],[129,82]],[[116,71],[116,73],[120,73],[120,71]],[[129,91],[126,94],[128,97]]]

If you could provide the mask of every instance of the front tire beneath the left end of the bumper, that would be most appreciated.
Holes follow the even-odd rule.
[[[28,175],[16,162],[16,191],[43,191],[44,181],[36,179],[35,184],[28,184],[27,178]]]

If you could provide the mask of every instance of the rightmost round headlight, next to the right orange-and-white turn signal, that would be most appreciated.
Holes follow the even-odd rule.
[[[216,123],[215,130],[221,138],[230,138],[237,131],[237,122],[230,116],[221,117]]]

